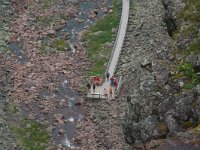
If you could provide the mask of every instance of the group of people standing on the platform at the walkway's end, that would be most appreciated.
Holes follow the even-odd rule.
[[[103,95],[105,96],[105,98],[108,99],[108,96],[110,98],[113,97],[113,90],[117,88],[118,84],[117,84],[117,79],[114,76],[110,77],[110,73],[109,72],[106,73],[106,79],[107,79],[107,82],[110,81],[110,84],[109,84],[108,90],[106,88],[104,88]],[[89,92],[90,92],[90,90],[92,88],[93,93],[95,93],[96,85],[92,84],[92,86],[91,86],[90,83],[87,83],[87,88],[88,88]]]

